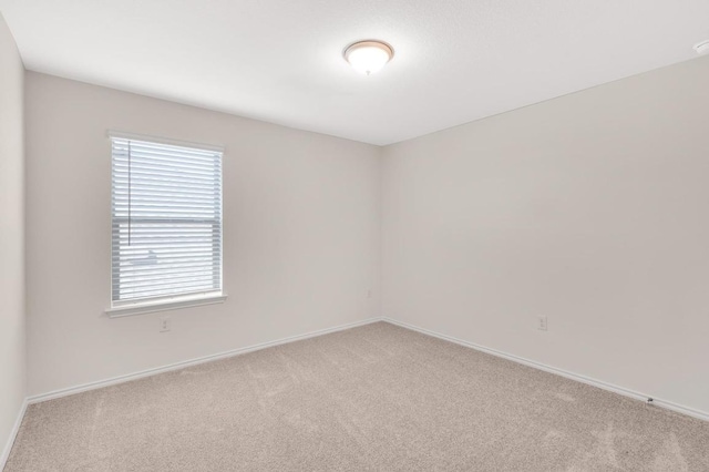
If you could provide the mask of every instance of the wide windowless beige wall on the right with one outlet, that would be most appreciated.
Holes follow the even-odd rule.
[[[700,58],[387,147],[382,315],[709,412],[707,84]]]

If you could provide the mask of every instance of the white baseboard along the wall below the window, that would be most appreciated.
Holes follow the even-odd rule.
[[[295,341],[301,341],[304,339],[309,339],[309,338],[315,338],[315,337],[318,337],[318,336],[329,335],[331,332],[342,331],[342,330],[346,330],[346,329],[356,328],[358,326],[370,325],[372,322],[377,322],[377,321],[381,321],[381,320],[382,320],[381,318],[368,318],[368,319],[364,319],[364,320],[361,320],[361,321],[354,321],[354,322],[350,322],[350,324],[347,324],[347,325],[336,326],[336,327],[332,327],[332,328],[319,329],[317,331],[310,331],[310,332],[306,332],[306,334],[302,334],[302,335],[290,336],[290,337],[287,337],[287,338],[277,339],[275,341],[261,342],[261,343],[254,345],[254,346],[247,346],[245,348],[233,349],[233,350],[229,350],[229,351],[226,351],[226,352],[219,352],[219,353],[215,353],[215,355],[198,357],[198,358],[194,358],[194,359],[184,360],[184,361],[181,361],[181,362],[175,362],[175,363],[169,363],[169,365],[162,366],[162,367],[155,367],[155,368],[152,368],[152,369],[142,370],[142,371],[134,372],[134,373],[127,373],[127,374],[124,374],[124,376],[112,377],[110,379],[97,380],[95,382],[89,382],[89,383],[83,383],[83,384],[75,386],[75,387],[69,387],[69,388],[65,388],[65,389],[54,390],[54,391],[47,392],[47,393],[40,393],[40,394],[32,396],[32,397],[28,397],[25,403],[33,404],[33,403],[40,403],[42,401],[54,400],[54,399],[62,398],[62,397],[69,397],[71,394],[81,393],[81,392],[85,392],[85,391],[89,391],[89,390],[95,390],[95,389],[101,389],[101,388],[104,388],[104,387],[115,386],[117,383],[130,382],[132,380],[137,380],[137,379],[142,379],[142,378],[145,378],[145,377],[156,376],[156,374],[163,373],[163,372],[169,372],[169,371],[173,371],[173,370],[184,369],[186,367],[198,366],[201,363],[210,362],[210,361],[214,361],[214,360],[227,359],[227,358],[239,356],[239,355],[244,355],[244,353],[247,353],[247,352],[254,352],[254,351],[257,351],[257,350],[271,348],[274,346],[286,345],[286,343],[295,342]],[[0,469],[0,470],[2,470],[2,469]]]

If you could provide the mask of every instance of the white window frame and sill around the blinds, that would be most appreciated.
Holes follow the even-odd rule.
[[[113,155],[112,155],[112,151],[111,151],[111,145],[113,142],[113,138],[121,138],[121,140],[133,140],[133,141],[142,141],[142,142],[147,142],[147,143],[155,143],[155,144],[166,144],[166,145],[174,145],[174,146],[183,146],[183,147],[192,147],[192,148],[197,148],[201,151],[214,151],[214,152],[218,152],[222,154],[222,184],[224,182],[224,154],[225,154],[225,147],[224,146],[215,146],[215,145],[210,145],[210,144],[202,144],[202,143],[193,143],[193,142],[187,142],[187,141],[177,141],[177,140],[171,140],[171,138],[165,138],[165,137],[156,137],[156,136],[147,136],[147,135],[141,135],[141,134],[135,134],[135,133],[123,133],[123,132],[119,132],[119,131],[113,131],[113,130],[109,130],[106,133],[109,140],[109,157],[111,160],[113,160]],[[111,170],[111,177],[113,177],[113,170]],[[220,202],[222,202],[222,214],[219,215],[219,220],[220,220],[220,240],[219,240],[219,245],[220,245],[220,257],[222,260],[219,263],[219,278],[220,278],[220,290],[218,291],[209,291],[209,293],[198,293],[198,294],[185,294],[185,295],[175,295],[175,296],[165,296],[165,297],[160,297],[160,298],[153,298],[153,299],[148,299],[148,300],[125,300],[125,301],[114,301],[113,300],[113,242],[112,242],[112,236],[109,237],[110,240],[110,267],[111,267],[111,274],[109,277],[109,281],[110,281],[110,299],[111,299],[111,305],[110,308],[105,309],[106,315],[110,318],[119,318],[119,317],[125,317],[125,316],[133,316],[133,315],[142,315],[142,314],[150,314],[150,312],[157,312],[157,311],[165,311],[165,310],[174,310],[174,309],[179,309],[179,308],[188,308],[188,307],[197,307],[197,306],[203,306],[203,305],[214,305],[214,304],[222,304],[224,301],[226,301],[227,295],[226,291],[224,290],[224,209],[223,209],[223,203],[224,203],[224,189],[223,189],[223,185],[220,186]],[[113,192],[111,192],[112,194]],[[111,205],[111,209],[109,212],[109,214],[111,215],[110,217],[110,224],[111,224],[111,232],[113,229],[113,214],[112,214],[112,205]],[[112,233],[110,233],[112,234]]]

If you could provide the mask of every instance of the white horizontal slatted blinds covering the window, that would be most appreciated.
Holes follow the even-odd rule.
[[[113,306],[222,293],[222,152],[111,137]]]

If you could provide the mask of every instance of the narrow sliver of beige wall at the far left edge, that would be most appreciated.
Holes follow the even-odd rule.
[[[25,394],[23,74],[0,16],[0,468]]]

